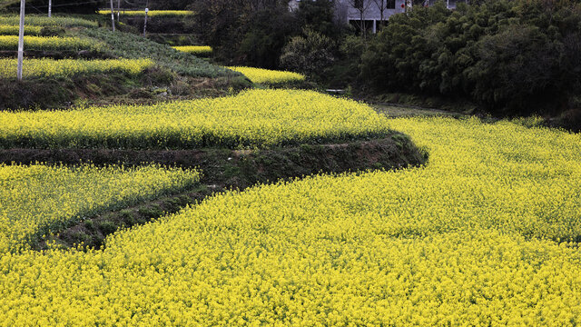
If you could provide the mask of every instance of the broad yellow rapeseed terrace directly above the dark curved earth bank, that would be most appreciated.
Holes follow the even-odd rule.
[[[0,147],[267,147],[386,134],[369,106],[311,91],[250,90],[169,104],[0,113]]]

